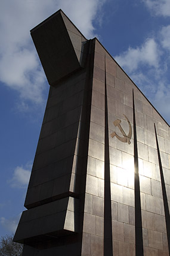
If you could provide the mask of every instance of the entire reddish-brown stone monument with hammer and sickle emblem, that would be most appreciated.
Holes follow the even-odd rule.
[[[168,256],[169,125],[61,10],[31,35],[50,92],[14,236],[23,255]]]

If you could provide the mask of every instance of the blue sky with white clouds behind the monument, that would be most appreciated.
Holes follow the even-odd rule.
[[[170,124],[170,0],[4,0],[0,3],[0,236],[13,234],[49,85],[30,29],[58,9],[97,37]]]

